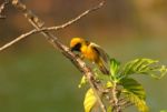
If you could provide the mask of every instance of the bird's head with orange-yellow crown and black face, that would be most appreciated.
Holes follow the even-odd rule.
[[[71,39],[70,41],[70,50],[71,51],[78,51],[80,52],[80,48],[82,44],[86,43],[86,40],[85,39],[81,39],[81,38],[73,38]]]

